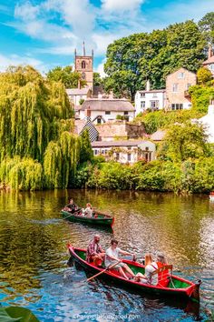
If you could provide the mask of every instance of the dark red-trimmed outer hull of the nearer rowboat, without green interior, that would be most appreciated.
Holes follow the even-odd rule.
[[[68,249],[71,257],[73,257],[73,259],[87,271],[92,272],[93,274],[96,274],[103,270],[103,268],[95,267],[92,264],[87,263],[82,257],[79,256],[80,253],[85,252],[85,250],[81,248],[72,247],[70,245],[68,246]],[[144,269],[144,266],[141,265],[140,263],[132,262],[130,260],[123,260],[123,262],[129,265],[132,270],[134,268],[135,269],[134,273],[136,273],[138,270]],[[135,282],[133,280],[127,280],[123,277],[119,277],[110,271],[104,272],[100,277],[104,278],[105,280],[108,280],[109,282],[112,281],[117,285],[128,288],[130,291],[134,291],[135,293],[138,293],[138,294],[150,293],[150,294],[163,296],[163,297],[170,297],[170,296],[186,297],[186,298],[195,297],[199,300],[199,286],[188,280],[185,280],[183,278],[176,277],[176,276],[171,276],[171,279],[174,281],[174,283],[177,283],[177,285],[185,284],[187,287],[172,288],[172,287],[157,287],[152,285],[146,285],[146,284]]]

